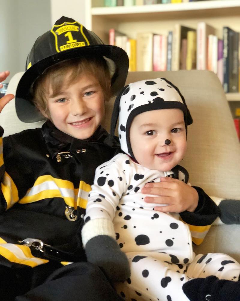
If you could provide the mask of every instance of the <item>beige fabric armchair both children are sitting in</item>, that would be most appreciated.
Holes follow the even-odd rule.
[[[10,81],[8,93],[14,93],[21,74]],[[240,262],[240,144],[223,88],[217,76],[210,71],[130,72],[127,83],[142,79],[165,77],[182,92],[193,117],[188,129],[188,150],[182,165],[188,170],[190,183],[222,199],[223,214],[210,228],[203,243],[195,246],[196,253],[227,253]],[[103,125],[110,127],[114,99],[106,108]],[[42,122],[26,124],[16,117],[14,101],[0,115],[5,135],[26,128],[41,126]],[[224,224],[228,222],[229,225]],[[231,223],[231,224],[230,224]]]

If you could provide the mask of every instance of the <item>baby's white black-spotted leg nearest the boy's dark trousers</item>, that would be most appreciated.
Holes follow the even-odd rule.
[[[188,281],[184,274],[187,265],[161,262],[143,253],[131,258],[129,263],[131,277],[116,287],[125,300],[189,301],[182,290]]]

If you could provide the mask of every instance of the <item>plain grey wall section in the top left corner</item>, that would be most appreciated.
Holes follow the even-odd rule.
[[[25,70],[38,36],[51,27],[50,0],[0,0],[0,70],[10,76]]]

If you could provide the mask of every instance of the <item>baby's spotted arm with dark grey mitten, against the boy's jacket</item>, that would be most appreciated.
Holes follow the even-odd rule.
[[[115,158],[115,157],[114,157]],[[116,241],[113,218],[126,179],[114,158],[99,166],[94,185],[88,196],[85,224],[82,228],[82,243],[89,262],[100,266],[113,281],[125,281],[130,276],[128,259]]]

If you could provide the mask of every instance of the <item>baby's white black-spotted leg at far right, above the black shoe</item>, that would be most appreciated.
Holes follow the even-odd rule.
[[[240,264],[226,254],[208,253],[197,255],[188,266],[189,278],[206,278],[214,275],[219,279],[240,280]]]

